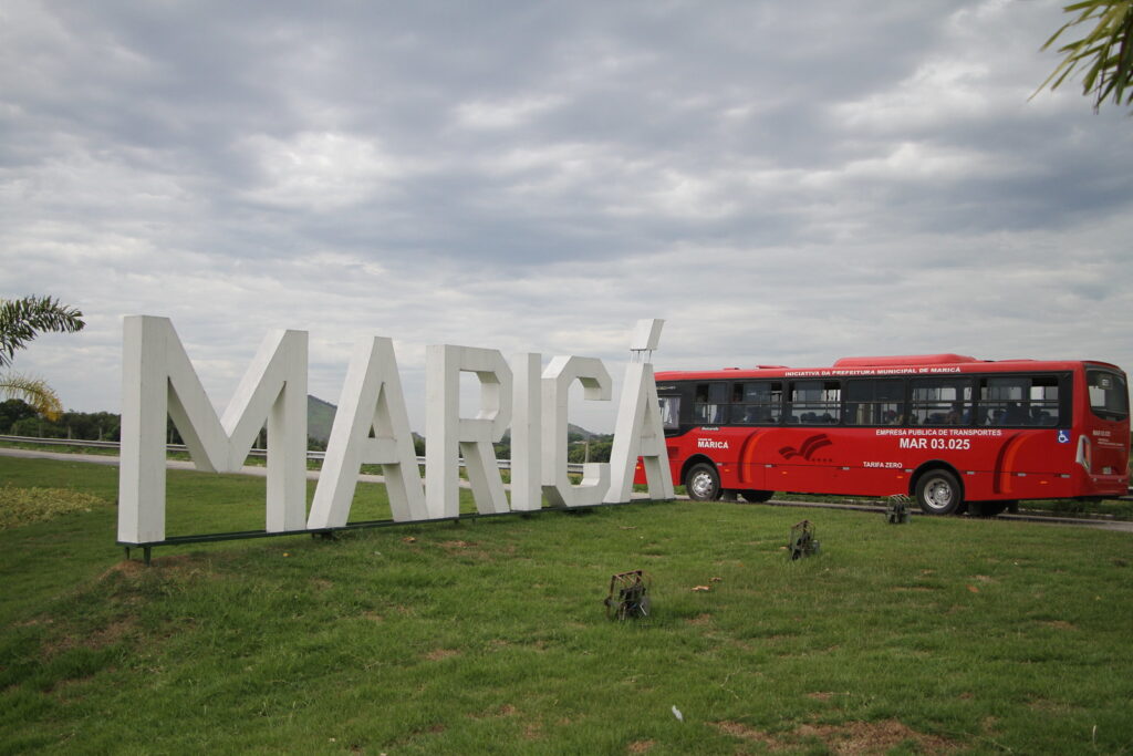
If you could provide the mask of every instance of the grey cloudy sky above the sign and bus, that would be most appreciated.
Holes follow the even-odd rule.
[[[310,333],[658,368],[954,351],[1133,368],[1133,120],[1029,96],[1062,0],[0,5],[14,367],[120,406],[121,318],[213,400]],[[613,410],[576,415],[611,430]]]

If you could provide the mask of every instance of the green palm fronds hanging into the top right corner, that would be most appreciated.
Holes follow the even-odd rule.
[[[1082,94],[1093,97],[1096,111],[1110,96],[1116,105],[1133,105],[1133,0],[1082,0],[1063,10],[1075,17],[1047,40],[1043,50],[1071,28],[1082,25],[1088,28],[1091,24],[1092,28],[1081,39],[1058,48],[1063,61],[1039,91],[1047,85],[1058,88],[1082,67],[1085,69]]]

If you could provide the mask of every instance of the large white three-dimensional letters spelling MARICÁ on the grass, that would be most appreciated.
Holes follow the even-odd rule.
[[[414,456],[401,379],[391,339],[355,348],[315,496],[307,512],[307,333],[276,331],[264,339],[223,417],[218,417],[165,317],[126,318],[122,365],[121,470],[118,541],[165,540],[165,423],[172,418],[197,469],[229,473],[244,464],[267,425],[269,533],[342,527],[361,465],[381,465],[393,519],[410,523],[459,515],[463,457],[482,513],[543,506],[628,502],[638,458],[649,496],[673,498],[653,365],[664,321],[639,321],[614,427],[610,464],[587,465],[580,484],[566,475],[566,409],[571,384],[587,400],[608,401],[612,382],[602,360],[538,354],[512,365],[496,349],[435,346],[426,352],[425,481]],[[460,414],[460,374],[479,380],[475,417]],[[511,499],[493,442],[511,427]],[[372,433],[373,432],[373,433]]]

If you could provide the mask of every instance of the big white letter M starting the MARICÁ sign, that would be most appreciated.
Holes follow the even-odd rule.
[[[165,540],[167,416],[198,469],[239,470],[267,421],[272,533],[306,527],[307,333],[275,331],[218,418],[167,317],[126,317],[118,541]]]

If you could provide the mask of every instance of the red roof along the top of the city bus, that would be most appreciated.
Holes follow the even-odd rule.
[[[657,380],[729,380],[743,377],[853,377],[861,375],[940,375],[948,373],[1010,373],[1068,371],[1093,365],[1122,372],[1110,363],[1096,359],[977,359],[966,355],[894,355],[889,357],[843,357],[829,367],[794,368],[785,365],[726,367],[712,371],[658,371]]]

